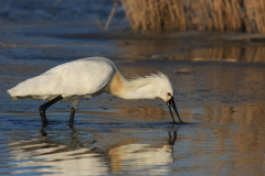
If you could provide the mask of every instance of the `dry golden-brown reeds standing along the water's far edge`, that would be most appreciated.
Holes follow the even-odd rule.
[[[265,33],[264,0],[120,0],[135,30]]]

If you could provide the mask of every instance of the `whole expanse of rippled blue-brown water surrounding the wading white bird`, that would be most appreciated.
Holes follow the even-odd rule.
[[[263,38],[141,33],[124,30],[120,13],[113,31],[100,32],[95,18],[105,22],[113,2],[54,2],[4,0],[0,7],[0,175],[263,175]],[[59,64],[95,55],[114,59],[127,78],[168,75],[186,124],[171,123],[160,99],[103,94],[81,101],[74,127],[62,102],[49,108],[50,124],[42,128],[43,101],[12,101],[7,94]]]

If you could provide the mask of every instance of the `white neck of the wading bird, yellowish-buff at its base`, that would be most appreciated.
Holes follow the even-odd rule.
[[[156,87],[145,81],[145,78],[127,80],[117,72],[109,92],[124,99],[155,99],[156,91]]]

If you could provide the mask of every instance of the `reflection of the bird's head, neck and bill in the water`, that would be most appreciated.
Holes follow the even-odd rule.
[[[151,144],[126,144],[108,152],[112,161],[113,173],[146,170],[149,175],[168,175],[169,163],[174,161],[173,145],[177,140],[177,131],[169,132],[167,144],[155,147]]]

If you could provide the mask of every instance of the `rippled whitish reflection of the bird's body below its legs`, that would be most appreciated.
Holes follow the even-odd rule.
[[[22,175],[49,173],[57,176],[108,175],[107,160],[94,147],[95,140],[91,134],[80,135],[80,131],[72,128],[70,133],[49,135],[42,128],[41,135],[40,139],[32,135],[25,141],[10,139],[9,148],[15,151],[10,153],[14,167],[10,173]]]

